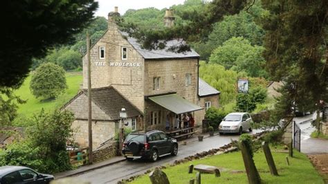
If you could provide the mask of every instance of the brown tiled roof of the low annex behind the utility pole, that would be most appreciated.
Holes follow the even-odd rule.
[[[84,95],[81,97],[81,95]],[[86,119],[87,118],[87,90],[84,89],[75,95],[72,100],[62,107],[62,109],[70,109],[73,111],[75,118]],[[83,98],[83,99],[81,99]],[[75,102],[79,100],[79,102]],[[119,112],[124,107],[127,112],[127,118],[143,115],[142,112],[138,110],[131,104],[129,100],[124,98],[116,89],[112,86],[91,89],[91,101],[93,103],[92,119],[96,120],[119,120]],[[83,103],[83,104],[81,104]],[[95,105],[95,106],[94,106]],[[81,109],[85,110],[81,113]],[[103,112],[97,112],[97,111]],[[105,113],[106,115],[102,114]],[[110,118],[107,118],[110,117]]]

